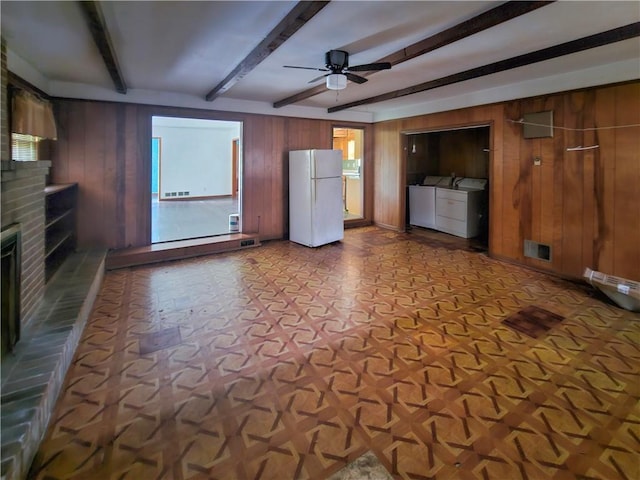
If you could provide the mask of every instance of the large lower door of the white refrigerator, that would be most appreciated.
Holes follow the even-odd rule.
[[[322,178],[311,183],[311,246],[342,240],[344,220],[340,178]]]

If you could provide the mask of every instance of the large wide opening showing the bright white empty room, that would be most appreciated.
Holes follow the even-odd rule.
[[[151,243],[241,231],[241,145],[242,122],[152,117]]]

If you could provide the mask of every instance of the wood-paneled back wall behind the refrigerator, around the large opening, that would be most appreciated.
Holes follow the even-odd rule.
[[[288,151],[332,148],[334,122],[328,120],[65,99],[55,105],[58,141],[52,148],[51,181],[79,184],[80,246],[150,243],[154,115],[243,122],[242,230],[258,232],[263,240],[288,232]],[[371,165],[372,125],[340,125],[365,129],[365,165]],[[368,211],[371,221],[372,206]]]

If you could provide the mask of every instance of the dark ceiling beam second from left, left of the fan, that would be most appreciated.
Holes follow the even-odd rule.
[[[311,20],[329,2],[298,2],[276,27],[242,60],[222,82],[216,85],[205,99],[208,102],[216,99],[233,87],[237,82],[253,70],[260,62],[271,55],[280,45],[287,41],[305,23]]]

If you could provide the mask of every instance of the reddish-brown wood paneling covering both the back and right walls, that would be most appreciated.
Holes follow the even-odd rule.
[[[153,115],[243,122],[243,230],[263,239],[288,232],[287,152],[331,148],[328,120],[146,105],[56,100],[59,140],[51,180],[79,183],[80,245],[150,242],[150,137]],[[640,83],[523,99],[381,122],[365,129],[365,215],[405,225],[403,133],[490,125],[489,249],[496,257],[580,277],[591,267],[640,280],[640,130],[554,129],[525,139],[523,114],[553,110],[556,127],[588,129],[640,123]],[[568,152],[567,147],[600,148]],[[371,156],[371,152],[374,156]],[[533,165],[533,157],[542,164]],[[371,175],[373,171],[373,175]],[[525,239],[552,246],[550,263],[525,258]]]

